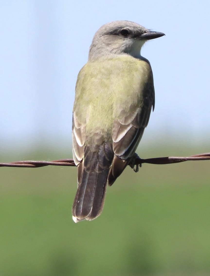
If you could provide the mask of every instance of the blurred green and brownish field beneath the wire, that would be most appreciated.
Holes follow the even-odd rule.
[[[150,150],[141,157],[203,152]],[[127,168],[107,188],[102,215],[78,224],[76,168],[0,168],[0,275],[210,275],[209,165]]]

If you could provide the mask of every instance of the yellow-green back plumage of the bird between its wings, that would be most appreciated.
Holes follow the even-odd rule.
[[[73,108],[79,123],[86,125],[86,136],[99,131],[111,141],[113,121],[134,112],[150,96],[145,95],[149,79],[153,81],[150,64],[131,56],[87,62],[78,75]]]

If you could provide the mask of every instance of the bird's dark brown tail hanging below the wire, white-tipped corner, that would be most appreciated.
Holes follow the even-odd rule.
[[[102,212],[113,156],[109,143],[85,147],[84,158],[78,165],[78,190],[72,208],[75,222],[95,219]]]

